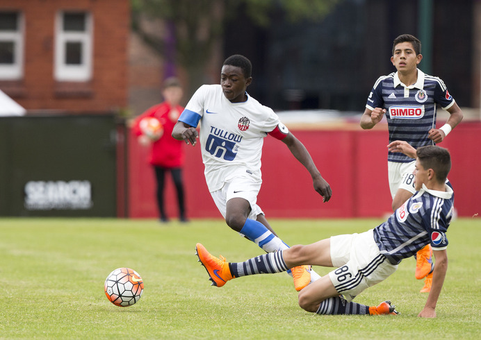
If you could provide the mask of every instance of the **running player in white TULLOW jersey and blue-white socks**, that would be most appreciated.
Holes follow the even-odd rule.
[[[244,56],[227,58],[220,85],[199,87],[174,126],[172,137],[193,146],[199,138],[207,186],[227,225],[270,253],[288,246],[277,237],[256,204],[262,182],[263,138],[271,135],[286,144],[309,171],[313,187],[324,202],[329,201],[332,190],[307,149],[277,114],[247,94],[251,73],[250,60]],[[195,129],[199,122],[200,136]],[[295,289],[309,284],[309,271],[310,266],[292,269]],[[313,277],[317,276],[313,273]]]

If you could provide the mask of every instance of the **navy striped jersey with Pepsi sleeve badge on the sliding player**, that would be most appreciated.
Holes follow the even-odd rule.
[[[409,198],[389,219],[374,228],[374,240],[392,264],[411,257],[431,244],[434,250],[448,246],[446,230],[453,216],[454,193],[423,188]]]

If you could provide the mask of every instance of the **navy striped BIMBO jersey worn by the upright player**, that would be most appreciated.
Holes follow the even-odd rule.
[[[418,69],[418,80],[414,85],[401,83],[398,72],[377,79],[366,108],[386,109],[389,143],[403,140],[417,149],[434,144],[427,138],[427,133],[431,128],[436,128],[437,104],[448,110],[454,103],[443,80]],[[387,158],[390,162],[412,161],[404,153],[388,152]]]

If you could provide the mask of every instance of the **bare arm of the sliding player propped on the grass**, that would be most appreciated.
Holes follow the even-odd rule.
[[[436,304],[443,288],[444,278],[446,278],[446,271],[448,271],[448,253],[445,250],[433,250],[434,259],[436,260],[436,266],[434,266],[434,272],[432,273],[432,287],[430,294],[427,296],[426,304],[418,314],[421,318],[435,318],[436,317]]]

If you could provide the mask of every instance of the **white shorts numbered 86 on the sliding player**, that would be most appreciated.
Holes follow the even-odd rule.
[[[329,278],[348,302],[398,269],[380,253],[372,229],[361,234],[333,236],[330,241],[332,264],[339,268],[331,271]]]

